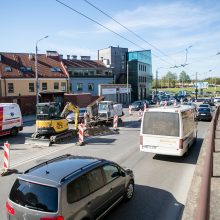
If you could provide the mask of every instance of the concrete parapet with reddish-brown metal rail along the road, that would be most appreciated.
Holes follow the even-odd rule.
[[[213,176],[213,152],[215,130],[220,107],[217,108],[204,138],[194,171],[182,220],[208,220],[210,216],[211,177]]]

